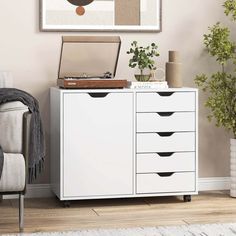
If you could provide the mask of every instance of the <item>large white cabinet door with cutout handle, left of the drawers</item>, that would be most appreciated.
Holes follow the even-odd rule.
[[[64,94],[64,197],[133,193],[133,94]]]

